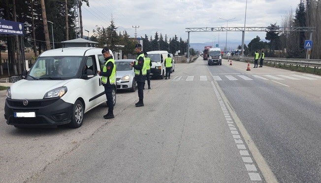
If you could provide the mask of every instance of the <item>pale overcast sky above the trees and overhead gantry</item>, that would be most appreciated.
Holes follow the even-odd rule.
[[[248,0],[246,27],[267,27],[277,23],[295,9],[300,0]],[[135,36],[132,26],[139,26],[137,36],[155,36],[155,32],[183,40],[188,39],[186,28],[244,27],[246,0],[89,0],[90,7],[82,6],[84,34],[93,34],[96,26],[107,28],[111,16],[118,30]],[[225,20],[219,19],[223,18]],[[265,32],[246,32],[245,40]],[[191,43],[216,42],[225,44],[226,32],[191,32]],[[228,41],[242,40],[242,32],[228,32]],[[228,47],[228,45],[227,45]]]

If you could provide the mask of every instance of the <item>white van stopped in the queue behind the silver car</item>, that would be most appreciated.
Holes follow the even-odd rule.
[[[166,73],[164,61],[167,58],[167,51],[150,51],[147,52],[148,56],[151,59],[151,76],[156,77],[159,76],[160,79],[164,78]]]

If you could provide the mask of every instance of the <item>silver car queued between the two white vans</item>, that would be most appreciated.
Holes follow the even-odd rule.
[[[117,90],[136,91],[135,71],[130,66],[134,59],[115,60]]]

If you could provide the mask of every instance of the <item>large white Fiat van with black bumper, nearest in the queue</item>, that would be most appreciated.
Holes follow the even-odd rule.
[[[39,55],[25,79],[7,90],[4,118],[15,127],[69,123],[77,128],[84,114],[106,102],[101,77],[101,48],[74,47]],[[109,50],[112,54],[112,52]],[[116,103],[116,85],[113,90]]]

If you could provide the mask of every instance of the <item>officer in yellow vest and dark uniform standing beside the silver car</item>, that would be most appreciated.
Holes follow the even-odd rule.
[[[138,88],[138,97],[139,101],[135,104],[136,107],[144,106],[144,85],[145,85],[145,78],[147,74],[146,64],[144,60],[144,53],[142,52],[142,45],[136,44],[135,45],[135,52],[137,53],[137,59],[134,62],[131,62],[130,65],[135,69],[135,80],[137,82]]]

